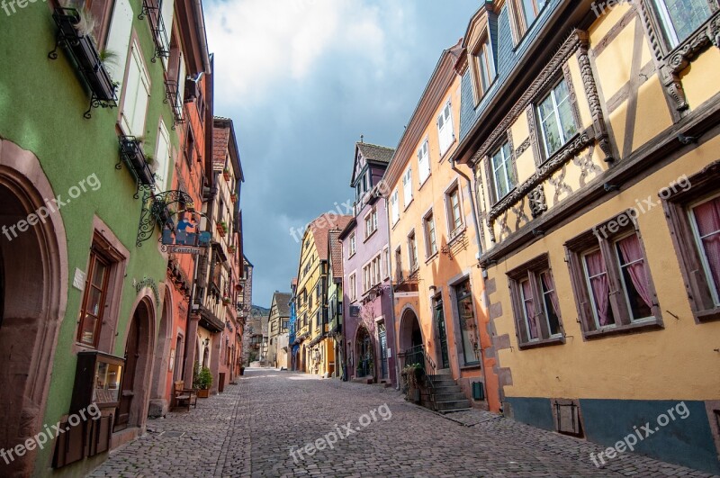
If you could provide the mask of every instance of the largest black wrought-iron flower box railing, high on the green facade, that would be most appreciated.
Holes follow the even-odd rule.
[[[52,19],[58,25],[58,34],[55,50],[48,53],[48,58],[58,59],[58,45],[62,45],[75,62],[91,93],[90,107],[83,116],[90,119],[93,108],[117,106],[117,85],[112,82],[90,35],[79,31],[80,14],[75,8],[57,7]]]

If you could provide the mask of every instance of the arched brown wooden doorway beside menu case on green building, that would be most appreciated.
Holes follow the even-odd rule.
[[[154,323],[152,306],[145,298],[139,302],[132,314],[125,340],[125,370],[122,374],[121,400],[115,415],[114,431],[141,427],[145,423]]]

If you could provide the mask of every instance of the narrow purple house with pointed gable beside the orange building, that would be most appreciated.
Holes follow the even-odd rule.
[[[394,149],[356,143],[355,219],[343,246],[343,333],[347,378],[397,386],[387,203],[383,174]]]

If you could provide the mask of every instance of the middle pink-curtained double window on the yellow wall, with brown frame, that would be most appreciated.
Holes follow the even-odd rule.
[[[661,324],[643,244],[629,214],[623,212],[565,245],[586,336]]]

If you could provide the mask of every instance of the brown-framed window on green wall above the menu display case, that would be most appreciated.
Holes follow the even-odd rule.
[[[108,293],[110,262],[93,248],[90,251],[90,263],[85,276],[85,291],[80,308],[80,327],[77,329],[77,341],[90,347],[97,347],[103,312]]]

